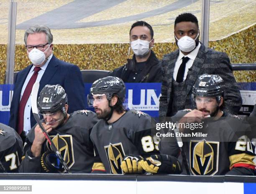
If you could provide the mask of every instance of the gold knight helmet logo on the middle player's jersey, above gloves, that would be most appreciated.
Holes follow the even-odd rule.
[[[123,161],[125,153],[123,151],[122,143],[110,143],[108,146],[105,146],[105,151],[108,157],[111,173],[123,174],[123,171],[121,169],[121,163]]]

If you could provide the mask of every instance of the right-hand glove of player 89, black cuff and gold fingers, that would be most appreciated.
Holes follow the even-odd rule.
[[[142,168],[152,174],[181,174],[181,164],[174,156],[166,154],[151,155],[140,161]]]

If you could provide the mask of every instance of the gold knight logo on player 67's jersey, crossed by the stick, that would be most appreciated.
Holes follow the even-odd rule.
[[[61,154],[67,166],[70,168],[74,164],[74,151],[73,151],[73,139],[72,135],[50,135],[54,145]],[[47,141],[47,148],[51,150]],[[64,171],[64,168],[63,168]]]

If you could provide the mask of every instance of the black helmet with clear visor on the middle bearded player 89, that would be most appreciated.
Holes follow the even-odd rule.
[[[105,94],[108,100],[111,100],[113,94],[117,94],[120,98],[120,102],[123,103],[125,100],[125,92],[125,84],[123,80],[118,77],[108,76],[97,79],[90,88],[90,94],[87,95],[87,104],[92,106],[93,95],[97,94]]]

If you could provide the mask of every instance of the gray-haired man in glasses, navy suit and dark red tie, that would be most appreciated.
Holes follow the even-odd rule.
[[[17,74],[10,107],[9,126],[26,137],[36,124],[31,111],[31,89],[40,82],[38,95],[46,84],[64,87],[71,107],[69,113],[85,108],[84,83],[78,66],[57,59],[53,55],[53,36],[46,26],[31,26],[24,34],[31,65]]]

